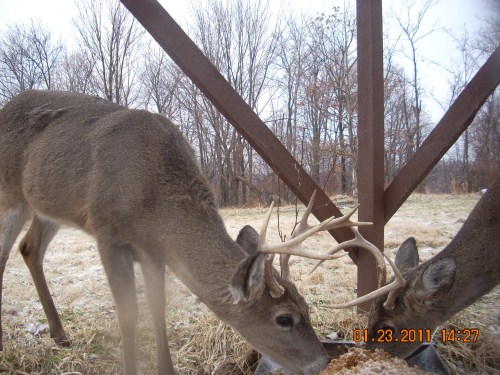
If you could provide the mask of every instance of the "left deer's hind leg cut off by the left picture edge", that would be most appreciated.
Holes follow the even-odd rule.
[[[21,233],[24,223],[31,215],[31,210],[28,206],[22,205],[18,208],[7,210],[0,214],[0,350],[3,350],[2,341],[2,291],[3,291],[3,275],[5,266],[9,259],[12,246]]]

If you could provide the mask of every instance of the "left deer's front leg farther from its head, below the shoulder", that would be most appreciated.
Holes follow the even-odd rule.
[[[101,261],[116,305],[116,316],[122,336],[124,375],[136,375],[135,331],[138,307],[133,249],[126,244],[112,245],[102,241],[98,243]]]

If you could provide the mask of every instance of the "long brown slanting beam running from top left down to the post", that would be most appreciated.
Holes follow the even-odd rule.
[[[302,202],[309,202],[317,191],[312,212],[319,220],[342,215],[158,1],[121,2]],[[331,233],[337,241],[353,237],[348,228]]]

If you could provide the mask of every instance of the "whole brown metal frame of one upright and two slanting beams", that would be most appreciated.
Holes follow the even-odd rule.
[[[315,184],[255,112],[229,85],[156,0],[121,0],[172,60],[245,137],[278,177],[304,203],[316,190],[313,214],[324,220],[340,210]],[[384,248],[384,224],[472,122],[500,81],[498,48],[443,116],[410,162],[384,191],[384,103],[382,0],[357,0],[358,23],[358,191],[359,218],[373,222],[363,235]],[[361,162],[363,161],[363,162]],[[337,241],[352,238],[348,228],[332,231]],[[358,266],[358,296],[377,287],[374,260],[350,252]],[[361,305],[367,311],[370,303]]]

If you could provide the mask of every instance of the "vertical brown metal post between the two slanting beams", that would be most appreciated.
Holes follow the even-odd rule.
[[[357,0],[359,219],[361,234],[384,249],[384,82],[382,1]],[[358,296],[377,288],[375,260],[358,249]],[[358,306],[368,311],[371,302]]]

